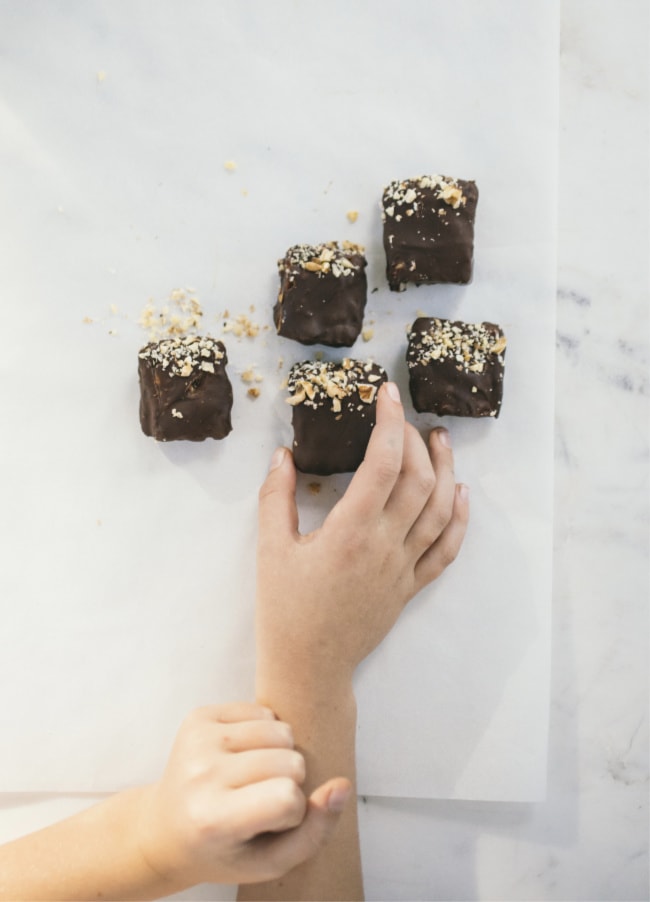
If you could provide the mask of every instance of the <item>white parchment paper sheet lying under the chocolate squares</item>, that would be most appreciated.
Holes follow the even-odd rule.
[[[280,383],[312,353],[274,334],[275,262],[349,238],[378,291],[348,353],[404,397],[418,311],[509,339],[502,416],[445,423],[471,486],[461,558],[359,673],[359,789],[540,798],[556,3],[5,2],[0,51],[0,790],[154,779],[190,708],[251,696],[257,489],[291,439]],[[392,294],[381,190],[431,172],[479,185],[474,281]],[[138,423],[137,320],[186,286],[205,331],[226,308],[263,328],[225,336],[231,436],[165,446]],[[348,477],[311,481],[304,528]]]

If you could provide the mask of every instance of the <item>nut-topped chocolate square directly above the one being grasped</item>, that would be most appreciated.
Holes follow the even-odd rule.
[[[353,345],[368,292],[363,250],[350,241],[289,248],[278,260],[280,291],[273,308],[278,335],[304,345]]]

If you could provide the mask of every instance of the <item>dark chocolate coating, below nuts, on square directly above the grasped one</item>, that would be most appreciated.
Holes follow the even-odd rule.
[[[304,246],[307,247],[307,246]],[[318,245],[314,248],[322,247]],[[363,324],[368,285],[366,258],[347,252],[352,263],[346,273],[314,272],[290,261],[291,250],[280,267],[280,291],[273,308],[278,335],[304,345],[350,347]]]

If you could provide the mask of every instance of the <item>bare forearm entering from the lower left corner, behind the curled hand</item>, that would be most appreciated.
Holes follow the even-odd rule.
[[[147,787],[111,796],[0,848],[0,899],[155,899],[183,887],[147,863],[138,824]]]

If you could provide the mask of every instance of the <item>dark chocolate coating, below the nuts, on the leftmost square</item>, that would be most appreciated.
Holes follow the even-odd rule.
[[[154,350],[152,342],[140,352]],[[153,358],[138,360],[140,377],[140,425],[145,435],[159,442],[202,442],[222,439],[232,430],[232,386],[226,373],[228,358],[222,342],[213,342],[217,354],[208,363],[214,372],[194,367],[187,375],[163,368]],[[220,359],[216,357],[221,354]]]

